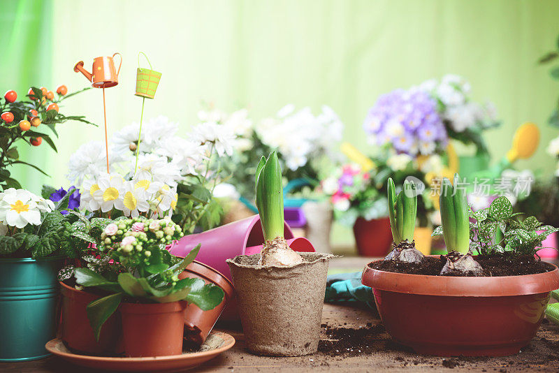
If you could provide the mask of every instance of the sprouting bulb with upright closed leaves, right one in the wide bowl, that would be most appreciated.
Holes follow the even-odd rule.
[[[441,183],[439,198],[442,226],[437,227],[433,235],[442,234],[447,245],[447,263],[441,275],[462,272],[480,276],[483,268],[472,257],[470,249],[470,217],[466,191],[458,185],[460,177],[454,175],[454,185],[446,177]]]

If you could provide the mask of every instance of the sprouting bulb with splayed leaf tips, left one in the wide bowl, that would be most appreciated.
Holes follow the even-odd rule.
[[[415,186],[412,182],[405,180],[403,190],[396,195],[394,182],[389,177],[387,187],[393,250],[386,256],[386,260],[421,263],[425,256],[415,248],[414,242],[417,215]]]

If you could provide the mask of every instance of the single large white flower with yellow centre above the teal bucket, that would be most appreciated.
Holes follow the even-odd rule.
[[[0,200],[0,221],[16,228],[27,224],[41,225],[41,212],[34,198],[38,197],[25,189],[4,191]]]

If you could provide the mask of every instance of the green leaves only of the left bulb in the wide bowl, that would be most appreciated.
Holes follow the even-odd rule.
[[[417,196],[414,184],[405,180],[404,189],[396,195],[394,181],[389,177],[388,203],[390,229],[394,244],[414,239],[415,219],[417,215]]]

